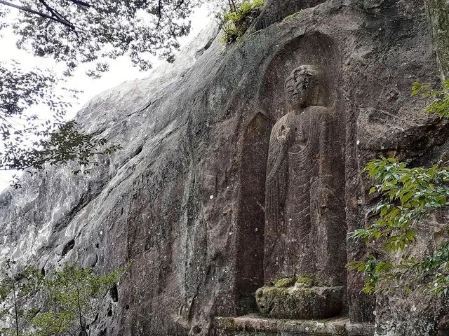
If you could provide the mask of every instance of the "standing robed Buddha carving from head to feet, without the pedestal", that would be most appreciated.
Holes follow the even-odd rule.
[[[326,90],[320,78],[315,66],[293,70],[285,83],[288,113],[272,129],[265,188],[266,282],[314,274],[321,285],[341,284],[342,265],[332,265],[328,255],[330,225],[342,219],[333,181],[331,113],[322,106]]]

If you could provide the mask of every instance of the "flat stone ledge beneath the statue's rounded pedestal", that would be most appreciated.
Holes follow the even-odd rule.
[[[257,315],[215,317],[212,336],[373,336],[374,325],[348,318],[280,320]]]

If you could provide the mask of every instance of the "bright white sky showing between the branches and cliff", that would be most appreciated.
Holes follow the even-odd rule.
[[[210,12],[211,8],[209,6],[202,6],[195,10],[194,15],[192,15],[192,29],[189,36],[180,38],[181,46],[186,45],[189,41],[194,38],[199,31],[203,29],[207,22],[210,22]],[[14,59],[20,62],[22,65],[29,67],[30,69],[37,67],[39,69],[53,69],[55,72],[62,72],[58,64],[55,63],[53,59],[43,59],[41,57],[33,57],[29,55],[24,50],[18,50],[15,47],[15,38],[11,34],[11,31],[2,31],[4,34],[3,38],[0,38],[0,61],[8,61]],[[156,68],[161,64],[161,60],[154,59],[153,67]],[[74,76],[67,79],[67,83],[63,86],[75,89],[83,90],[82,94],[79,94],[79,99],[76,101],[72,100],[72,108],[69,109],[67,113],[67,118],[74,118],[76,112],[79,111],[83,104],[86,104],[90,99],[92,99],[96,94],[107,90],[109,87],[114,87],[123,83],[126,80],[133,80],[137,78],[145,78],[148,73],[140,72],[137,68],[133,67],[130,60],[126,57],[119,57],[117,59],[111,60],[109,62],[109,71],[104,73],[102,78],[93,79],[86,76],[85,71],[88,66],[79,66],[74,73]],[[62,87],[62,85],[59,85]],[[56,89],[57,94],[64,94],[64,91]],[[29,110],[30,113],[36,113],[42,115],[41,111],[46,111],[46,108],[40,108],[39,106],[32,106]],[[45,118],[45,116],[43,116]],[[0,192],[6,188],[11,181],[11,176],[16,174],[16,172],[0,172]]]

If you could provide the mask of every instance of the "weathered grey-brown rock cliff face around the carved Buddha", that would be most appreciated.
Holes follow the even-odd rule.
[[[326,236],[329,260],[332,248],[339,265],[365,253],[342,237],[368,221],[374,200],[358,174],[368,160],[447,160],[445,124],[409,94],[413,81],[436,83],[439,73],[422,1],[272,0],[242,43],[222,52],[213,32],[205,36],[182,66],[123,83],[79,112],[83,130],[122,151],[90,175],[48,168],[0,196],[2,259],[46,270],[78,260],[98,272],[134,260],[95,325],[99,335],[208,335],[213,316],[255,311],[270,134],[286,115],[284,81],[297,66],[323,73],[338,139],[327,151],[342,160],[345,213],[338,237]],[[436,332],[440,306],[376,303],[360,294],[363,279],[338,274],[351,321],[375,321],[377,335]]]

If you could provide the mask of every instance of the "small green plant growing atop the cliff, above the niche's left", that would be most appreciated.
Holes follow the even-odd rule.
[[[222,10],[218,15],[225,33],[220,41],[226,45],[239,41],[253,20],[260,15],[264,5],[264,0],[229,0],[229,9]]]

